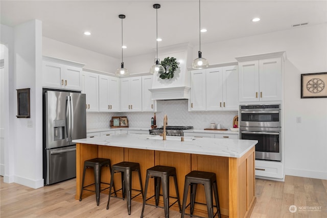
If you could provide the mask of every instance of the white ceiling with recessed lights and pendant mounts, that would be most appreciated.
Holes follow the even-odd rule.
[[[44,37],[114,58],[121,57],[121,19],[124,57],[153,53],[156,46],[199,44],[199,2],[194,1],[3,1],[1,23],[14,27],[31,19],[42,21]],[[260,17],[259,22],[251,22]],[[201,1],[201,44],[287,30],[297,23],[327,22],[327,1]],[[308,26],[308,25],[306,25]],[[301,28],[301,27],[297,27]],[[90,31],[90,36],[83,35]]]

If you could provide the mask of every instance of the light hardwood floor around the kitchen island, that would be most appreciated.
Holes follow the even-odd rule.
[[[75,200],[76,180],[33,189],[16,183],[4,183],[0,178],[0,217],[139,217],[142,203],[132,202],[131,215],[126,201],[110,199],[101,193],[100,205],[95,196]],[[327,180],[286,176],[285,182],[256,179],[256,204],[251,217],[327,217]],[[297,211],[291,213],[289,207]],[[311,210],[317,211],[311,211]],[[144,217],[165,217],[164,209],[146,206]],[[170,217],[180,213],[170,210]]]

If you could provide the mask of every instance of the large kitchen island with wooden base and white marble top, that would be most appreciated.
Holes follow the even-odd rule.
[[[156,135],[121,134],[78,139],[74,142],[77,143],[76,199],[80,195],[84,161],[101,157],[110,158],[111,164],[121,161],[138,162],[143,183],[146,170],[154,165],[176,167],[180,197],[183,196],[186,174],[193,170],[214,172],[217,175],[222,217],[249,216],[255,204],[254,146],[258,141],[192,137],[184,137],[184,141],[181,141],[181,137],[177,136],[167,136],[167,140],[162,140],[162,137]],[[133,175],[133,181],[137,181],[134,176],[136,175]],[[87,172],[85,185],[93,181],[92,172]],[[110,181],[110,173],[104,169],[102,181]],[[118,176],[114,182],[116,189],[121,187]],[[149,187],[153,185],[150,184]],[[175,196],[173,181],[170,187],[171,196]],[[139,189],[139,184],[133,182],[132,188]],[[87,192],[83,192],[82,198],[90,194]],[[153,193],[154,190],[149,188],[148,197]],[[134,200],[142,202],[141,196]],[[202,186],[198,186],[196,202],[205,203]],[[174,205],[171,209],[178,210],[178,207]],[[194,214],[205,216],[206,206],[197,204]]]

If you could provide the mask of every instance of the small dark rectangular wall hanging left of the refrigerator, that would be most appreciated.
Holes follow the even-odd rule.
[[[30,88],[17,90],[17,118],[30,118]]]

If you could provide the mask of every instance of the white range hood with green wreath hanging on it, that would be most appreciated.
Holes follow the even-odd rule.
[[[192,47],[188,43],[161,47],[158,49],[158,58],[164,60],[174,57],[179,63],[172,79],[162,80],[159,74],[153,74],[152,93],[153,100],[182,100],[190,99],[190,72],[187,66],[192,63]]]

